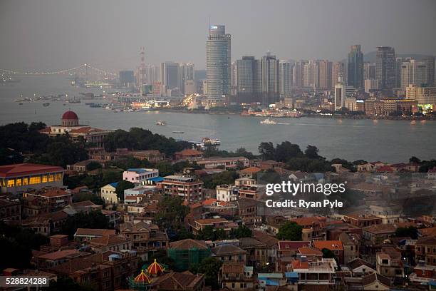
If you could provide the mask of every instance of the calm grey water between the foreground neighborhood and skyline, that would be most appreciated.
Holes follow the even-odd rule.
[[[422,159],[436,158],[435,121],[372,121],[334,118],[277,118],[279,124],[261,125],[263,118],[237,115],[208,115],[168,112],[118,112],[104,108],[90,108],[82,103],[51,102],[43,107],[41,102],[23,105],[14,100],[39,95],[68,93],[78,96],[81,92],[103,93],[103,89],[75,88],[66,76],[19,76],[20,83],[0,85],[0,124],[16,121],[43,121],[58,124],[64,111],[71,108],[81,123],[97,128],[128,130],[131,127],[150,129],[165,136],[199,141],[202,137],[219,138],[225,150],[244,147],[257,153],[261,141],[280,143],[290,141],[301,148],[317,146],[327,158],[348,160],[383,160],[405,162],[412,155]],[[106,89],[105,89],[106,90]],[[108,89],[111,91],[111,89]],[[93,101],[90,101],[93,102]],[[94,101],[100,103],[101,101]],[[167,126],[156,126],[157,120],[167,121]],[[172,131],[184,131],[183,134]]]

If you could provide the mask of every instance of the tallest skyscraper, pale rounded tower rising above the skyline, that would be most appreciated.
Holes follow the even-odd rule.
[[[206,43],[206,79],[209,101],[222,101],[231,86],[231,36],[224,25],[212,25]]]

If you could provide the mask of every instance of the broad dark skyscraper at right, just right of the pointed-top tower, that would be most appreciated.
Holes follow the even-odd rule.
[[[390,46],[378,46],[375,57],[375,78],[380,88],[395,87],[395,49]]]

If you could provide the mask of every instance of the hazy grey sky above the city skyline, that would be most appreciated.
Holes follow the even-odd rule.
[[[147,63],[204,68],[209,17],[232,34],[232,60],[337,61],[352,44],[436,55],[436,0],[0,0],[0,68],[134,68],[140,46]]]

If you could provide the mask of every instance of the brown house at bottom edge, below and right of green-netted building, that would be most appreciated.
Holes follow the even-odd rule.
[[[244,262],[224,262],[218,273],[219,286],[238,291],[254,290],[254,280],[249,274]]]

